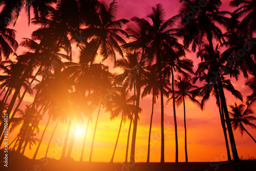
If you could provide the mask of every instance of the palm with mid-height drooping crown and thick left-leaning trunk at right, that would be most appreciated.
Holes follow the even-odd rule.
[[[212,86],[215,86],[215,89],[217,89],[217,101],[220,100],[219,108],[221,108],[221,110],[223,110],[224,112],[233,158],[234,160],[239,160],[223,89],[229,90],[234,96],[239,98],[241,101],[243,100],[241,93],[235,90],[230,83],[230,80],[225,80],[224,77],[225,75],[229,75],[230,77],[238,78],[240,71],[237,67],[229,67],[228,65],[225,65],[226,58],[221,56],[218,45],[214,49],[213,53],[215,58],[212,58],[211,54],[211,48],[208,45],[205,45],[204,48],[198,52],[197,56],[201,58],[202,62],[199,63],[198,70],[196,72],[196,75],[198,75],[198,77],[196,77],[195,80],[200,79],[200,81],[202,81],[206,78],[207,84],[204,89],[199,92],[201,95],[207,94],[207,96],[205,96],[206,100],[209,98],[209,93]],[[225,68],[225,71],[223,70],[223,68]]]

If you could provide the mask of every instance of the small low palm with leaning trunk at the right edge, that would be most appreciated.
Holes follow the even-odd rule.
[[[253,114],[253,111],[250,108],[244,110],[244,104],[229,105],[232,112],[229,112],[230,121],[234,130],[239,129],[241,135],[243,136],[244,131],[251,137],[251,139],[256,143],[256,140],[248,133],[245,129],[245,125],[249,125],[253,128],[256,128],[256,125],[251,123],[251,120],[256,120],[256,118],[250,114]]]

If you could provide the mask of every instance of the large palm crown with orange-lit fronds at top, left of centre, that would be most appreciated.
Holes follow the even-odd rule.
[[[110,5],[102,3],[99,8],[98,18],[96,18],[94,25],[86,29],[81,30],[83,37],[87,37],[81,43],[91,44],[93,50],[90,54],[91,64],[95,60],[97,52],[102,56],[102,60],[110,58],[116,66],[116,53],[123,57],[123,52],[119,46],[120,44],[125,44],[125,40],[118,34],[127,35],[127,33],[122,30],[124,24],[129,21],[126,19],[116,19],[117,12],[117,2],[114,0]]]

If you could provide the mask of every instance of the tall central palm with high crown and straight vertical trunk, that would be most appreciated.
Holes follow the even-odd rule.
[[[152,13],[148,15],[151,18],[152,25],[152,41],[150,43],[151,54],[156,59],[158,66],[158,72],[160,77],[160,100],[161,100],[161,163],[164,163],[164,102],[163,102],[163,79],[164,75],[162,70],[165,68],[164,61],[167,49],[183,50],[183,46],[179,44],[177,37],[177,29],[175,29],[175,23],[178,19],[177,16],[165,20],[165,11],[162,5],[157,4],[152,8]],[[150,56],[151,57],[151,56]],[[174,114],[176,117],[176,115]],[[176,120],[176,118],[175,118]],[[176,127],[177,125],[175,125]],[[178,136],[176,136],[176,143],[178,145]],[[176,162],[178,162],[178,146],[176,146]]]

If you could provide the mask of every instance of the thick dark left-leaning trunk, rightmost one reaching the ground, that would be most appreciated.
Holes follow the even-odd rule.
[[[228,130],[229,140],[231,143],[230,145],[231,145],[231,149],[232,149],[233,159],[234,159],[234,161],[239,161],[240,159],[239,159],[238,152],[237,152],[237,146],[236,146],[236,142],[234,141],[232,126],[231,126],[231,122],[230,122],[230,118],[229,118],[229,114],[228,114],[228,110],[227,110],[226,98],[224,95],[224,91],[223,91],[222,83],[221,83],[220,79],[218,79],[218,88],[219,88],[219,92],[220,92],[221,104],[223,106],[224,115],[226,118],[227,130]]]

